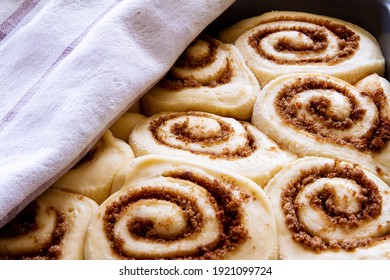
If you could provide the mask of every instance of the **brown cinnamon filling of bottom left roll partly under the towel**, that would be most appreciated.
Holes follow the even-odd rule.
[[[36,201],[30,203],[21,213],[19,213],[10,223],[0,229],[0,237],[22,236],[38,229],[35,217],[39,211]],[[56,260],[62,255],[62,240],[68,228],[65,214],[57,211],[54,207],[47,208],[46,211],[53,211],[56,215],[56,226],[45,245],[38,247],[24,254],[1,255],[0,259],[7,260]],[[45,236],[46,238],[46,236]]]

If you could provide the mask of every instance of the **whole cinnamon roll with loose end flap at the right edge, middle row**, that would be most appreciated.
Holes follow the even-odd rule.
[[[389,84],[380,81],[362,91],[324,74],[282,76],[262,90],[252,123],[300,157],[359,163],[390,183]]]

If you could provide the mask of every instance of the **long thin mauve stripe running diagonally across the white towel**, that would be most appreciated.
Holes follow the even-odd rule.
[[[43,82],[53,72],[54,69],[64,60],[72,51],[80,44],[89,31],[112,9],[114,9],[123,0],[117,0],[109,6],[99,17],[97,17],[76,39],[74,39],[61,53],[61,55],[53,62],[53,64],[45,71],[45,73],[34,83],[34,85],[22,96],[15,106],[0,120],[0,131],[4,129],[20,112],[20,110],[29,102],[34,94],[39,90]]]

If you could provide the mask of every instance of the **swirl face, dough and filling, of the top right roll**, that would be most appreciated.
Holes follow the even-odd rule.
[[[277,64],[340,63],[359,47],[359,36],[325,19],[281,16],[262,21],[249,45]]]

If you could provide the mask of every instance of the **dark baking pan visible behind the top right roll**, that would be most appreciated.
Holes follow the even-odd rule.
[[[366,29],[381,45],[386,59],[385,77],[390,80],[390,0],[237,0],[207,28],[207,32],[216,35],[222,28],[242,19],[273,10],[331,16]]]

